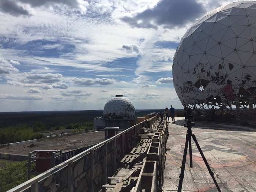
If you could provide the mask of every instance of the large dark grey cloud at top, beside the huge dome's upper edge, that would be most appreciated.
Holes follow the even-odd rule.
[[[132,27],[158,29],[162,25],[165,28],[183,27],[188,22],[193,22],[206,10],[203,4],[196,0],[161,0],[155,7],[129,17],[121,18]]]

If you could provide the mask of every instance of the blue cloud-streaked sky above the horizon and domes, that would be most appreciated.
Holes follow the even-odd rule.
[[[0,112],[182,108],[180,39],[215,0],[0,0]]]

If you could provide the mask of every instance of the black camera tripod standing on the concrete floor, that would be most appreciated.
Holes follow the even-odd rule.
[[[191,148],[191,137],[193,138],[194,142],[196,143],[196,147],[199,150],[199,153],[201,154],[204,163],[210,173],[210,176],[212,177],[212,180],[214,181],[217,189],[219,192],[221,192],[221,189],[219,188],[219,185],[217,184],[215,178],[214,178],[214,173],[211,171],[211,168],[208,164],[208,162],[206,161],[206,158],[204,157],[203,151],[201,149],[201,147],[199,146],[197,140],[196,140],[196,136],[194,134],[192,134],[192,126],[195,125],[195,123],[191,122],[191,119],[193,119],[193,116],[186,116],[186,118],[188,119],[187,121],[187,125],[184,124],[184,127],[188,128],[187,131],[187,135],[186,135],[186,143],[185,143],[185,148],[184,148],[184,153],[183,153],[183,158],[182,158],[182,165],[181,165],[181,172],[180,172],[180,181],[179,181],[179,185],[178,185],[178,192],[181,192],[181,188],[182,188],[182,182],[183,182],[183,178],[184,178],[184,170],[185,170],[185,165],[186,165],[186,158],[187,158],[187,151],[188,151],[188,144],[189,144],[189,162],[190,162],[190,167],[193,167],[193,162],[192,162],[192,148]]]

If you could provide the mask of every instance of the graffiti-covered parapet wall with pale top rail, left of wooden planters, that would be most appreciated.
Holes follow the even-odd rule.
[[[154,120],[157,120],[157,116],[96,144],[8,192],[99,191],[107,178],[116,172],[121,159],[136,146],[136,137],[141,128],[148,127]],[[58,188],[56,183],[59,184]]]

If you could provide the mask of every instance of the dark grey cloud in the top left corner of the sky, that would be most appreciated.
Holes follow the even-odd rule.
[[[0,1],[0,11],[8,13],[13,16],[25,15],[29,16],[29,12],[22,6],[18,5],[13,0],[1,0]]]

